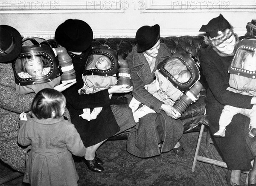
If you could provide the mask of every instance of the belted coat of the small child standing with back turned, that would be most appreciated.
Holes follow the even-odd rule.
[[[86,148],[74,125],[63,116],[31,118],[19,124],[18,143],[31,145],[23,181],[32,186],[77,185],[79,176],[72,154],[83,157]]]

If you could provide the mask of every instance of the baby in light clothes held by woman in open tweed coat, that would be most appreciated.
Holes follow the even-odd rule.
[[[154,97],[164,102],[167,105],[173,105],[175,101],[183,95],[180,90],[174,89],[173,85],[163,77],[158,71],[155,72],[156,80],[152,81],[151,84],[145,85],[145,89],[148,90]],[[174,78],[180,83],[185,83],[191,77],[189,70],[181,70],[176,72]],[[148,113],[155,113],[154,110],[143,105],[139,108],[140,102],[135,98],[132,98],[129,106],[133,110],[135,122],[139,122],[139,119]],[[139,109],[138,109],[139,108]]]

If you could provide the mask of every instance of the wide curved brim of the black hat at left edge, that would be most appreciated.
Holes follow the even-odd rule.
[[[0,28],[5,29],[12,35],[14,45],[15,45],[11,52],[9,52],[6,55],[0,56],[0,63],[4,63],[4,62],[7,63],[17,58],[17,56],[20,54],[20,51],[22,49],[22,37],[20,35],[20,32],[18,32],[12,26],[0,25]]]

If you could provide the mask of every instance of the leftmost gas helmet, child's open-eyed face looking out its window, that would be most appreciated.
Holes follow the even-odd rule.
[[[52,81],[60,75],[58,65],[58,59],[47,42],[40,44],[36,38],[25,39],[20,55],[13,63],[15,83],[24,86]]]

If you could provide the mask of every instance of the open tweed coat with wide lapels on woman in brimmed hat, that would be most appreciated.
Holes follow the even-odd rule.
[[[132,52],[126,58],[131,69],[131,82],[134,86],[132,95],[139,102],[156,111],[156,113],[149,113],[140,118],[136,126],[137,131],[129,134],[127,151],[138,157],[151,157],[159,155],[161,152],[170,151],[183,134],[183,125],[180,119],[173,119],[167,116],[163,110],[160,110],[163,102],[155,98],[144,88],[146,84],[150,84],[154,80],[154,72],[157,65],[169,55],[168,47],[161,43],[153,72],[151,72],[143,53],[137,53],[137,46],[134,46]],[[161,152],[158,147],[157,131],[155,129],[155,121],[159,115],[163,118],[161,122],[164,133]]]

